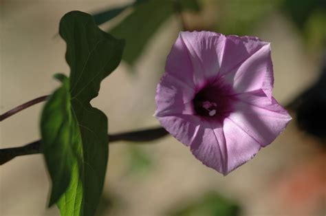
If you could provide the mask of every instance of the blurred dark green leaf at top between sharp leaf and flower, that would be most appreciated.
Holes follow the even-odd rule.
[[[182,10],[199,10],[196,0],[182,0]],[[158,28],[175,12],[175,0],[148,0],[137,4],[121,23],[109,32],[126,39],[122,58],[132,65]]]

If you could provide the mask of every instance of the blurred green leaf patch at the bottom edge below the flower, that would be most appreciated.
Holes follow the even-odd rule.
[[[234,202],[222,197],[218,193],[206,193],[198,197],[197,201],[180,205],[172,210],[170,216],[238,216],[240,208]]]

